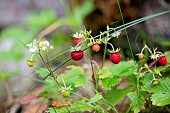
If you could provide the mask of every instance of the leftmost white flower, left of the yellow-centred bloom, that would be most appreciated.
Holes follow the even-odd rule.
[[[26,46],[29,47],[29,50],[30,50],[31,53],[35,53],[35,52],[38,51],[38,47],[37,47],[38,41],[36,41],[36,39],[32,43],[27,44]]]

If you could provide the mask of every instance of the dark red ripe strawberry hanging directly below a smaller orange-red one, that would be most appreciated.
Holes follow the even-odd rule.
[[[71,58],[75,61],[81,60],[83,56],[84,56],[84,53],[82,50],[71,52]]]

